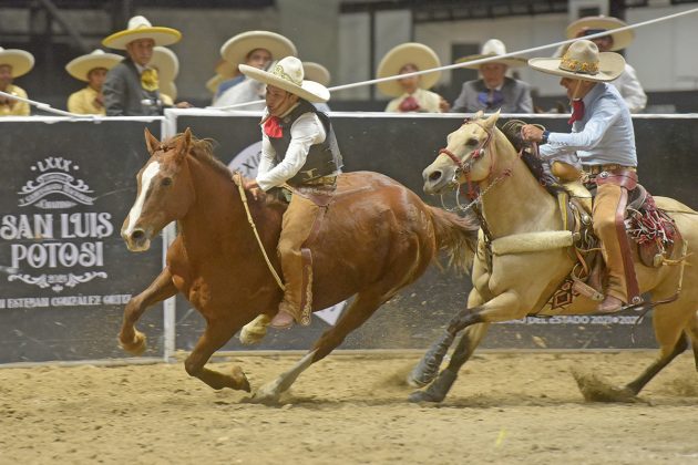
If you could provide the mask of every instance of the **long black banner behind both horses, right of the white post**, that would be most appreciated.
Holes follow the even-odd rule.
[[[500,122],[506,118],[502,117]],[[259,153],[259,118],[255,116],[178,116],[177,131],[191,127],[198,137],[217,141],[216,155],[232,168],[247,176],[256,173]],[[445,146],[446,135],[462,117],[410,117],[337,115],[332,117],[345,170],[368,169],[383,173],[422,198],[438,200],[422,193],[421,172]],[[541,117],[530,121],[552,131],[568,132],[566,117]],[[694,173],[698,162],[697,121],[694,118],[634,120],[640,182],[651,193],[677,198],[698,207],[694,195]],[[244,225],[243,227],[246,227]],[[260,257],[261,259],[261,257]],[[360,329],[350,334],[343,349],[424,348],[443,331],[451,316],[465,306],[471,289],[469,277],[441,272],[432,267],[417,283],[404,289],[379,309]],[[337,311],[325,317],[332,322]],[[314,318],[309,328],[296,327],[288,332],[270,330],[258,349],[308,349],[328,328],[322,317]],[[183,298],[177,301],[176,343],[192,349],[203,328],[196,310]],[[525,318],[495,324],[482,347],[525,349],[609,349],[656,347],[651,313],[643,321],[637,313],[617,316],[569,316]],[[245,349],[234,340],[226,349]]]

